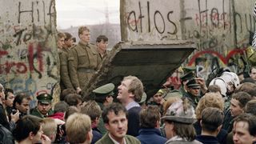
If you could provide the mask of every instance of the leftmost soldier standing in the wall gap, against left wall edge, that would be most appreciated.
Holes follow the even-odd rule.
[[[74,89],[71,81],[70,81],[70,74],[68,70],[68,53],[70,51],[70,46],[72,46],[72,35],[69,33],[65,33],[65,45],[62,46],[59,50],[59,62],[60,62],[60,86],[61,90],[65,89]]]

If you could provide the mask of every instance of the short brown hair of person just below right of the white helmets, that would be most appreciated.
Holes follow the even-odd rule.
[[[238,93],[235,93],[232,95],[232,98],[234,98],[235,100],[237,100],[239,102],[239,106],[241,108],[246,106],[246,103],[249,102],[251,100],[251,96],[250,94],[240,91]]]

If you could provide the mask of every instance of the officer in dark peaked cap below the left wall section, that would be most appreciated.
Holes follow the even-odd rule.
[[[48,115],[54,114],[51,110],[51,100],[53,97],[50,94],[39,94],[38,95],[38,106],[30,110],[30,114],[39,118],[47,118]]]

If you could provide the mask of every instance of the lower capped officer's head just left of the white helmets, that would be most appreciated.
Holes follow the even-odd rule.
[[[195,79],[191,79],[189,82],[186,83],[187,92],[194,97],[198,97],[200,94],[201,86],[197,83]]]

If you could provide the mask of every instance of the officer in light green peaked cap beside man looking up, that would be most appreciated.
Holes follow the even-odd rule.
[[[93,90],[95,101],[102,108],[102,110],[105,106],[110,105],[110,103],[113,102],[113,95],[114,95],[113,90],[114,90],[113,83],[108,83],[106,85],[100,86],[97,89]],[[100,130],[102,134],[106,134],[106,128],[104,126],[104,122],[102,118],[99,119],[98,130]]]

